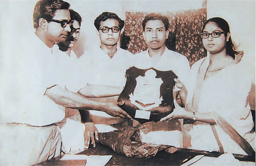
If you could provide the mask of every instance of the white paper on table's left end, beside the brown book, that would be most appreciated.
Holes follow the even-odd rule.
[[[64,155],[60,160],[86,160],[86,165],[104,166],[112,155]]]

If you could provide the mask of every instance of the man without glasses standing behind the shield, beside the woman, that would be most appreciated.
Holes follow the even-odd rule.
[[[182,98],[181,101],[177,90],[180,91],[181,83],[179,80],[187,85],[190,66],[188,59],[184,55],[169,50],[165,46],[165,41],[169,37],[168,18],[158,13],[150,13],[142,21],[142,28],[143,37],[148,49],[135,55],[135,67],[139,69],[149,69],[152,67],[160,71],[172,71],[178,77],[178,79],[174,79],[176,88],[172,100],[176,97],[178,104],[184,107],[186,100]],[[182,90],[181,93],[186,92]]]

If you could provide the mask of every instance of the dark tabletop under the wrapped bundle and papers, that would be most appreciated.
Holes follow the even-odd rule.
[[[130,125],[129,125],[130,124]],[[132,123],[129,121],[124,121],[119,124],[111,125],[116,128],[131,126]],[[100,142],[97,142],[96,147],[89,147],[89,149],[78,153],[79,155],[112,155],[112,158],[108,161],[106,165],[182,165],[184,162],[192,159],[196,155],[206,155],[212,157],[218,157],[220,155],[219,152],[207,152],[207,151],[196,151],[192,149],[178,149],[178,151],[170,154],[163,151],[160,151],[156,154],[155,157],[151,158],[134,158],[134,157],[126,157],[123,155],[119,155],[114,152],[111,148],[108,148],[102,145]],[[244,156],[244,155],[234,155],[236,159],[241,161],[254,161],[255,156]],[[68,161],[63,162],[60,160],[61,157],[53,158],[49,161],[45,161],[37,166],[41,165],[83,165],[83,162],[80,161]]]

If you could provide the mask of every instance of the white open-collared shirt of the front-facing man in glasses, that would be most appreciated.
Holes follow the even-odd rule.
[[[100,47],[97,47],[92,52],[82,55],[78,61],[81,74],[87,75],[84,83],[124,87],[125,72],[133,66],[133,55],[117,47],[116,54],[110,58]]]

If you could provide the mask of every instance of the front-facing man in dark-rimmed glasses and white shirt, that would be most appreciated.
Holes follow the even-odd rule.
[[[84,66],[84,71],[90,70],[87,74],[88,79],[84,80],[88,84],[79,92],[86,97],[101,97],[96,99],[116,103],[125,85],[125,71],[133,64],[133,55],[121,49],[118,44],[124,20],[116,13],[102,12],[95,18],[94,26],[97,29],[100,45],[92,48],[91,52],[87,52],[87,56],[81,56],[78,60],[80,63],[78,66]],[[80,113],[83,114],[81,111]],[[122,114],[119,115],[121,118],[113,118],[115,114],[111,112],[108,114],[112,116],[97,111],[90,111],[90,113],[92,118],[95,117],[93,119],[96,123],[104,123],[98,115],[106,118],[106,124],[110,121],[117,123],[123,120],[121,118],[125,118]]]

